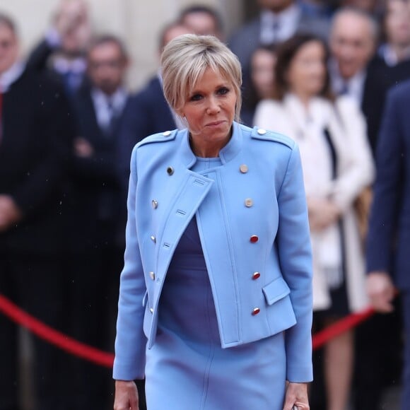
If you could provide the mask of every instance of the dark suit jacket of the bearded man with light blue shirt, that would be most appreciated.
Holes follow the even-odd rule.
[[[126,199],[119,166],[119,128],[124,111],[117,117],[112,133],[106,134],[98,125],[90,92],[90,87],[84,85],[73,99],[76,135],[86,139],[94,149],[93,156],[74,156],[71,167],[71,228],[75,250],[86,250],[102,242],[124,243]],[[126,108],[128,104],[129,100]],[[107,238],[103,238],[105,235]]]

